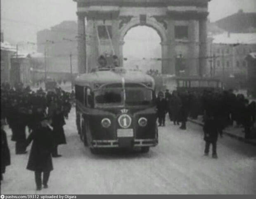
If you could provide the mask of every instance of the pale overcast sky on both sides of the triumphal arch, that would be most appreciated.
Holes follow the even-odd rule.
[[[209,19],[216,21],[238,9],[255,12],[256,0],[211,0]],[[36,42],[38,30],[76,18],[73,0],[1,0],[1,32],[11,43]]]

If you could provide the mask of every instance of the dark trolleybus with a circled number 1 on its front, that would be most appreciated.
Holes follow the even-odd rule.
[[[99,148],[158,144],[154,79],[122,67],[82,74],[75,81],[78,134],[92,153]]]

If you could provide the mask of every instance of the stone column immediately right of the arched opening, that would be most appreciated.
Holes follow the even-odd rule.
[[[175,21],[167,20],[167,40],[162,41],[162,74],[175,74]]]

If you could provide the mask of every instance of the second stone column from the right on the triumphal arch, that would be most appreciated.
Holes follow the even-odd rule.
[[[189,40],[189,52],[187,57],[187,69],[186,75],[188,76],[198,76],[198,37],[197,37],[197,23],[195,20],[189,21],[188,26],[188,40]]]

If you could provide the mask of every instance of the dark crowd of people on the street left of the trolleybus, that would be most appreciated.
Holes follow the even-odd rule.
[[[63,126],[71,110],[70,99],[74,92],[68,93],[61,88],[45,92],[42,88],[33,91],[21,83],[11,87],[1,85],[1,180],[5,167],[10,164],[10,154],[4,125],[12,131],[11,140],[15,143],[17,155],[25,154],[29,143],[34,140],[27,169],[35,171],[37,189],[47,181],[52,170],[52,157],[61,157],[57,147],[66,143]],[[26,137],[26,127],[29,136]]]

